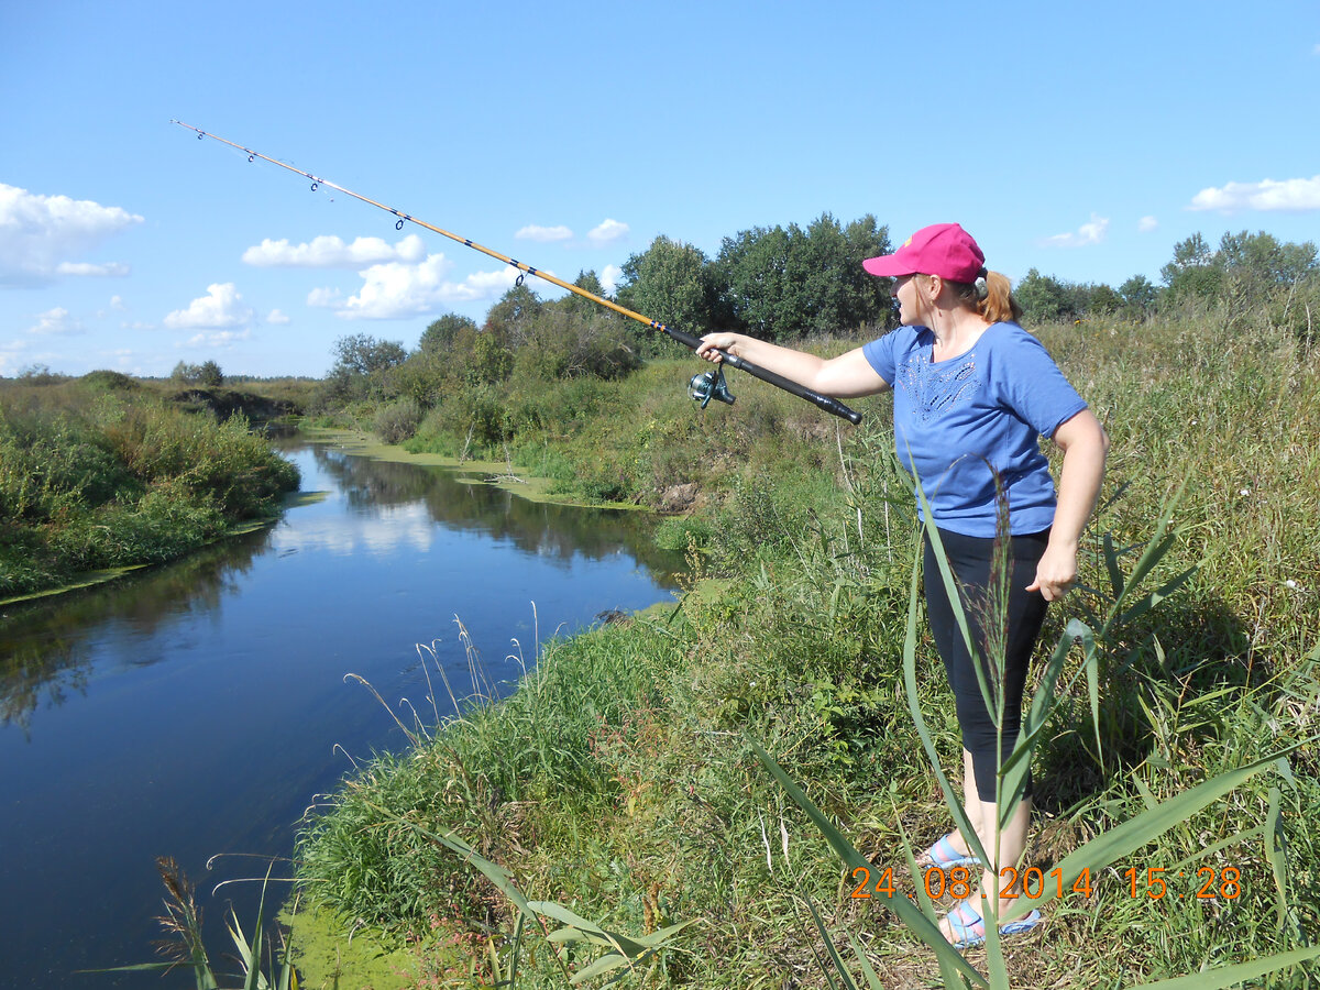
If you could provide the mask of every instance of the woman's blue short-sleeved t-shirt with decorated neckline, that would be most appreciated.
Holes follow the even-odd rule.
[[[1016,323],[991,323],[958,358],[933,362],[933,347],[927,327],[900,326],[862,352],[894,387],[899,459],[920,480],[936,524],[993,537],[993,469],[1008,496],[1010,531],[1049,528],[1055,482],[1039,437],[1053,436],[1086,403]]]

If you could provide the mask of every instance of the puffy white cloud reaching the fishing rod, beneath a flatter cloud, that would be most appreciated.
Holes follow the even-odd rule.
[[[356,296],[343,298],[338,289],[313,289],[309,306],[333,309],[343,319],[403,319],[447,309],[454,302],[494,300],[517,279],[512,267],[477,272],[462,281],[446,277],[454,264],[444,255],[429,255],[421,264],[372,265],[359,275]]]

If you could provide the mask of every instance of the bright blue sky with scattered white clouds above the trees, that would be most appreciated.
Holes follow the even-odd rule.
[[[8,3],[0,94],[0,375],[321,375],[512,284],[172,119],[566,280],[825,211],[1111,285],[1320,232],[1315,0]]]

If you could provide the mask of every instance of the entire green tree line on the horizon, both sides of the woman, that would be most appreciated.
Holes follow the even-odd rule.
[[[888,228],[875,216],[845,224],[826,213],[807,227],[739,231],[723,238],[714,257],[657,236],[627,259],[612,297],[593,271],[581,272],[574,284],[694,335],[717,329],[777,342],[878,335],[895,322],[890,284],[866,275],[861,261],[891,249]],[[1316,271],[1311,242],[1242,231],[1225,234],[1212,248],[1196,234],[1173,247],[1159,285],[1135,275],[1115,289],[1032,268],[1014,292],[1028,326],[1098,317],[1140,321],[1172,306],[1218,305],[1229,319],[1263,313],[1309,341],[1312,313],[1320,309]],[[519,284],[480,323],[457,314],[436,319],[412,351],[367,334],[339,338],[317,405],[322,412],[366,412],[393,442],[429,418],[428,433],[466,434],[491,446],[544,420],[535,401],[519,404],[519,396],[549,381],[618,379],[673,350],[661,334],[590,300],[543,300]]]

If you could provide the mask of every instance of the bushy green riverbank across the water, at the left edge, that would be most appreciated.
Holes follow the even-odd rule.
[[[275,519],[297,487],[297,470],[242,416],[189,412],[110,372],[5,381],[0,605],[114,579],[248,532]]]

